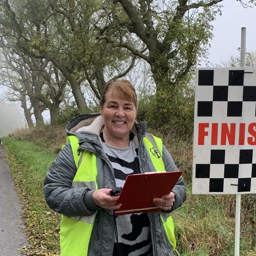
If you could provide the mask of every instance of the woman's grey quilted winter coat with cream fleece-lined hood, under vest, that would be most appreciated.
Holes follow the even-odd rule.
[[[84,114],[73,120],[66,127],[68,135],[76,135],[79,139],[79,150],[92,151],[97,156],[97,184],[98,188],[115,188],[113,167],[102,151],[99,133],[103,127],[103,120],[99,114]],[[138,146],[138,159],[141,173],[155,172],[150,155],[142,141],[146,133],[146,123],[135,123],[133,132]],[[178,170],[172,157],[163,146],[163,161],[167,171]],[[114,217],[113,211],[99,208],[95,205],[92,194],[94,190],[89,187],[71,188],[76,174],[76,165],[70,143],[67,143],[58,154],[49,172],[46,175],[44,191],[49,207],[66,216],[97,216],[93,226],[89,243],[89,256],[112,256],[114,246]],[[175,185],[175,204],[164,214],[178,208],[186,199],[186,187],[182,177]],[[154,256],[174,255],[169,244],[164,227],[158,212],[148,213],[151,223],[151,237]]]

